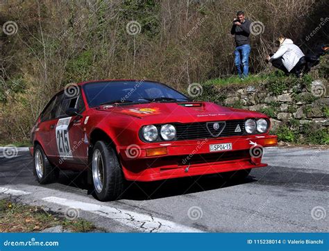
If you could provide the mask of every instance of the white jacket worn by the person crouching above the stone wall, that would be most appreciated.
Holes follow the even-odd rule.
[[[291,71],[303,56],[304,53],[301,49],[299,49],[292,40],[286,38],[280,45],[278,51],[271,56],[271,60],[282,57],[283,65],[288,71]]]

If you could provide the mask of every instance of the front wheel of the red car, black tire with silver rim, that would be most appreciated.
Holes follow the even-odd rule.
[[[101,180],[102,187],[97,188],[97,178],[95,180],[94,177],[94,157],[99,154],[101,155],[103,163],[103,168],[99,168],[103,170],[103,178],[99,179]],[[94,148],[92,149],[90,167],[94,189],[93,194],[98,200],[108,201],[119,200],[122,198],[125,187],[124,173],[122,172],[121,166],[119,164],[117,153],[109,144],[104,141],[96,142]]]

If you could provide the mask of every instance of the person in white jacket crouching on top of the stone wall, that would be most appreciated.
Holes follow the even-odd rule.
[[[289,38],[280,36],[278,42],[280,43],[278,51],[273,55],[267,55],[267,60],[286,75],[294,73],[299,78],[306,63],[303,51]]]

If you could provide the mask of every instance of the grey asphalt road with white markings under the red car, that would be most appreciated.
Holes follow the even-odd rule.
[[[0,198],[43,205],[94,222],[108,232],[328,232],[329,150],[266,148],[266,168],[244,182],[217,175],[135,183],[126,197],[99,202],[82,175],[65,172],[40,186],[26,152],[0,151]]]

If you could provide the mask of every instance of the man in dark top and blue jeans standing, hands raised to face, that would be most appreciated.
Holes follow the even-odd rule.
[[[244,12],[238,11],[237,18],[233,20],[233,26],[230,30],[232,35],[235,35],[235,66],[237,67],[237,73],[239,78],[245,78],[248,76],[249,64],[248,58],[250,53],[250,26],[251,21],[244,18]],[[243,71],[241,70],[243,67]]]

